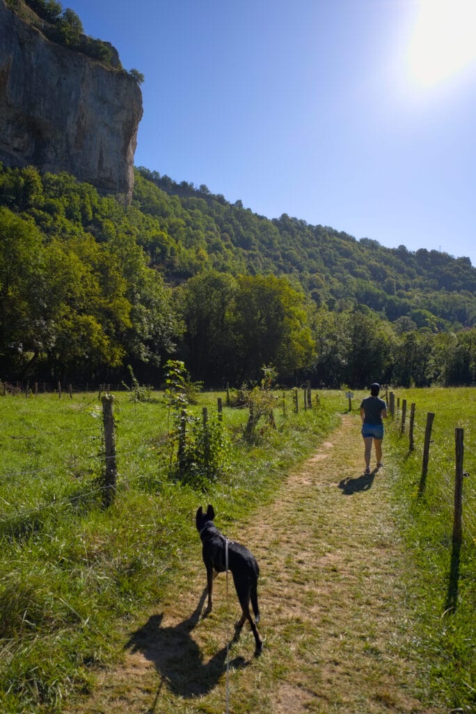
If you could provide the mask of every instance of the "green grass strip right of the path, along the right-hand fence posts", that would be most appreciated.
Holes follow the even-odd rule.
[[[415,451],[408,451],[408,418],[387,429],[395,503],[405,542],[419,573],[413,646],[429,670],[435,698],[448,708],[476,708],[476,389],[408,389],[395,394],[415,403]],[[428,411],[435,413],[425,491],[420,491]],[[461,548],[452,544],[455,428],[464,428]],[[431,695],[431,693],[430,693]]]

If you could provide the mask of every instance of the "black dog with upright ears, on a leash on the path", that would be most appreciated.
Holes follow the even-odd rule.
[[[213,506],[208,506],[207,513],[203,513],[202,506],[200,506],[195,518],[197,531],[200,533],[203,543],[203,562],[205,563],[205,568],[207,568],[208,603],[204,615],[207,615],[212,610],[213,579],[218,573],[223,573],[224,570],[227,570],[226,550],[228,550],[228,570],[232,572],[234,587],[237,590],[239,604],[242,606],[243,611],[241,618],[234,625],[236,628],[234,638],[239,638],[244,620],[248,620],[256,642],[255,654],[259,655],[263,649],[263,641],[256,626],[256,623],[259,622],[257,592],[259,567],[257,559],[244,545],[239,545],[239,543],[234,543],[233,540],[225,538],[214,525],[214,516]],[[249,611],[250,600],[255,620],[253,620]]]

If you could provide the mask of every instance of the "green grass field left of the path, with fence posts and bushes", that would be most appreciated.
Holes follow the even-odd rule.
[[[162,397],[115,397],[118,493],[101,506],[101,410],[93,394],[1,399],[0,710],[61,711],[88,690],[91,665],[120,656],[121,632],[157,603],[195,543],[193,515],[210,501],[222,520],[272,498],[276,483],[309,456],[338,421],[340,393],[319,408],[242,439],[247,413],[224,409],[231,468],[206,493],[168,476]],[[216,408],[217,393],[196,406]]]

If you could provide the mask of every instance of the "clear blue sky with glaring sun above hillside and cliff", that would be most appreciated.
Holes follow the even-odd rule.
[[[135,165],[476,265],[475,0],[69,0],[145,75]]]

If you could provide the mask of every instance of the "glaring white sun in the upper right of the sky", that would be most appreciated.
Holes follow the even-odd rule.
[[[413,81],[433,86],[476,61],[476,0],[420,0],[408,64]]]

